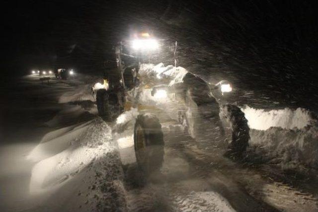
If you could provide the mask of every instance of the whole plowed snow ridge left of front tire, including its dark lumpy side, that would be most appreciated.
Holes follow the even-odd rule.
[[[46,211],[126,209],[118,145],[102,119],[48,133],[28,159],[38,161],[30,193],[48,195]]]

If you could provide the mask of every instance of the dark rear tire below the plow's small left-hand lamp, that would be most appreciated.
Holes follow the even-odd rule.
[[[114,121],[123,112],[117,94],[106,89],[97,90],[96,104],[98,115],[106,121]]]

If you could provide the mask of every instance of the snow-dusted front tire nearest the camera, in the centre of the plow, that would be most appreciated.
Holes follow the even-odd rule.
[[[159,119],[155,115],[138,115],[134,143],[137,164],[145,176],[159,170],[163,163],[164,141]]]

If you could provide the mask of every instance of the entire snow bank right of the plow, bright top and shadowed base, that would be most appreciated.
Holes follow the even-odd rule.
[[[259,110],[244,106],[250,147],[283,168],[318,168],[318,125],[308,110]]]

